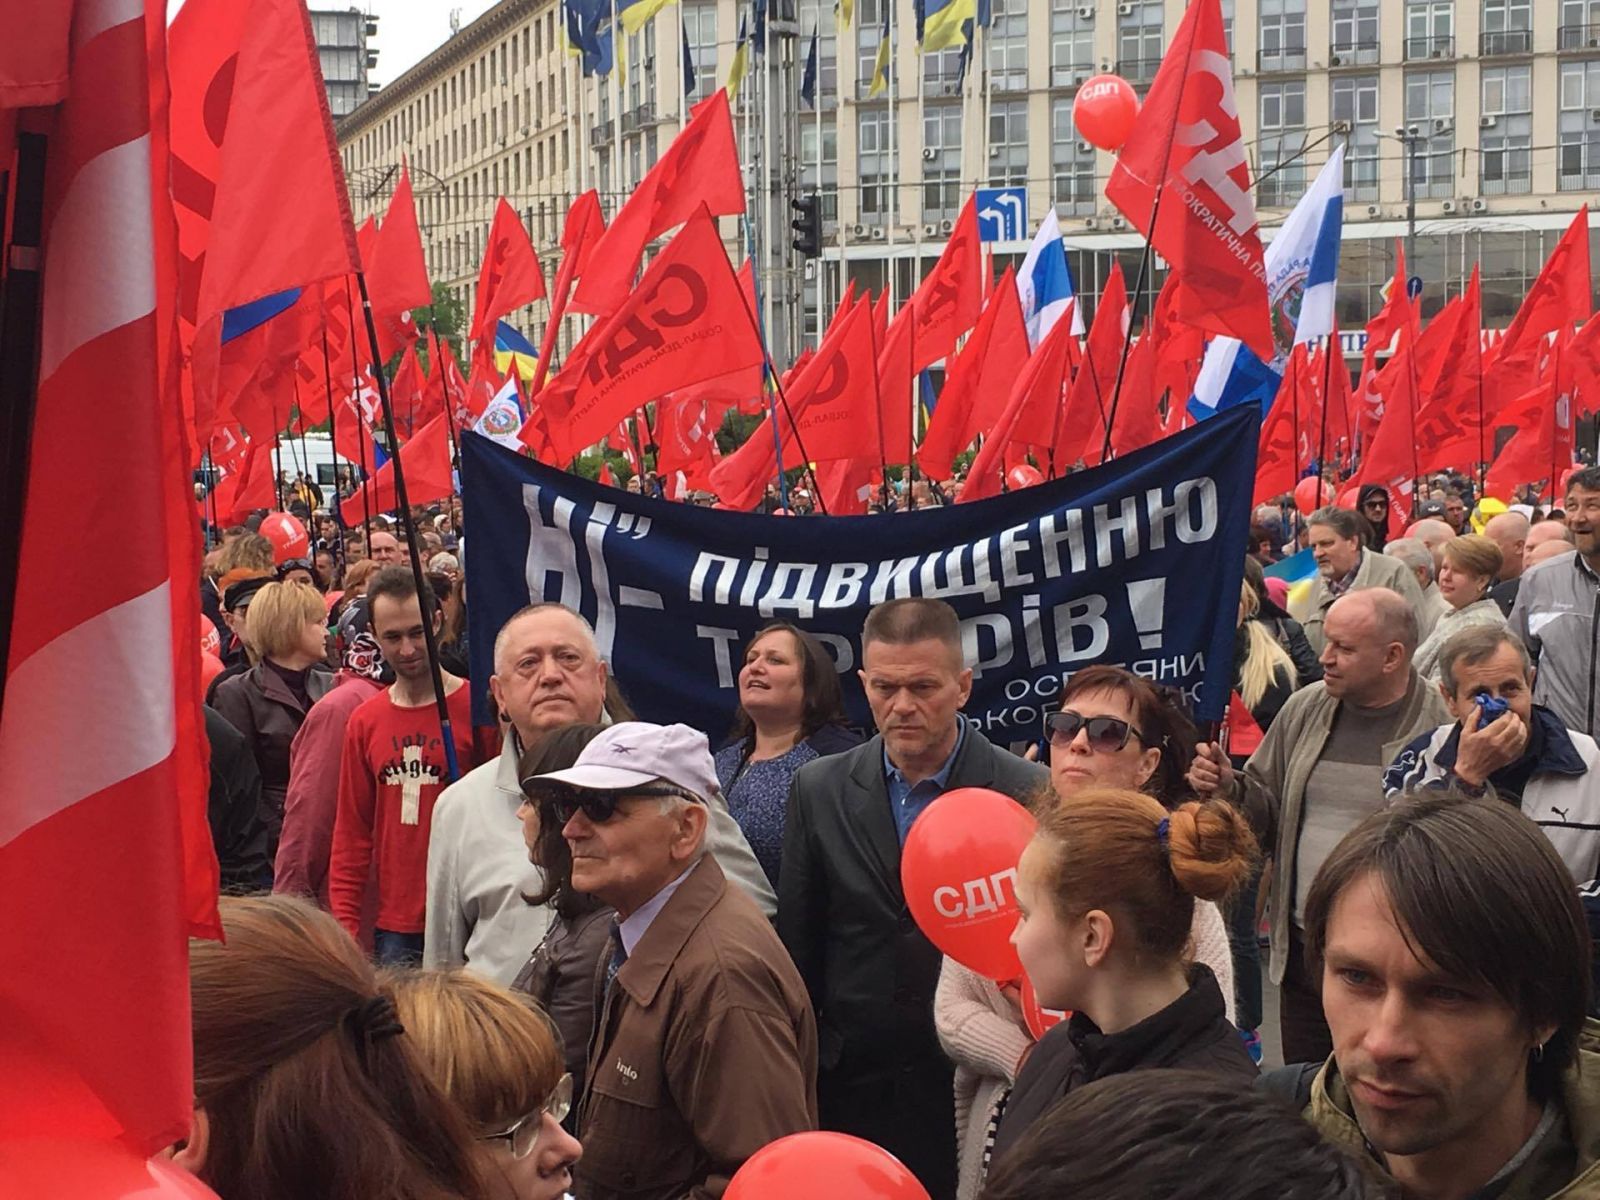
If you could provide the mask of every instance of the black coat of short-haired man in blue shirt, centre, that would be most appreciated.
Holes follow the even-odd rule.
[[[949,787],[992,787],[1026,800],[1048,779],[1043,766],[970,728]],[[816,1010],[822,1128],[883,1146],[934,1200],[954,1195],[954,1067],[933,1026],[942,957],[901,891],[883,738],[795,771],[778,936]]]

